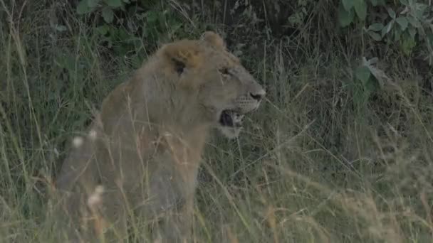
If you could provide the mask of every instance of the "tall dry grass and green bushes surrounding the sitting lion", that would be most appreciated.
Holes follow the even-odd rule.
[[[267,93],[207,144],[194,242],[433,242],[432,21],[427,0],[0,0],[0,242],[59,242],[73,137],[206,30]]]

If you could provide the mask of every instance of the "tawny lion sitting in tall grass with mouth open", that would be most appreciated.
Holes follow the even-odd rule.
[[[214,32],[162,46],[105,98],[88,135],[75,139],[63,163],[56,183],[67,192],[63,205],[75,224],[69,237],[115,229],[118,235],[106,239],[118,242],[127,216],[168,215],[162,239],[187,239],[209,130],[238,136],[244,114],[264,95]],[[83,225],[90,216],[96,232],[88,234]]]

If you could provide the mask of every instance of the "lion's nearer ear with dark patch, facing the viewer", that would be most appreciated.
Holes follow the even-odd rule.
[[[194,41],[169,43],[161,48],[160,53],[178,74],[182,74],[185,69],[197,68],[202,63],[201,51]]]

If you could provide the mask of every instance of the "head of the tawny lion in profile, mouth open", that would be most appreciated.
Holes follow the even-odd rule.
[[[230,139],[239,136],[244,114],[257,109],[266,92],[226,50],[221,36],[207,31],[199,40],[165,45],[160,55],[171,63],[167,69],[178,75],[178,85],[202,119]]]

